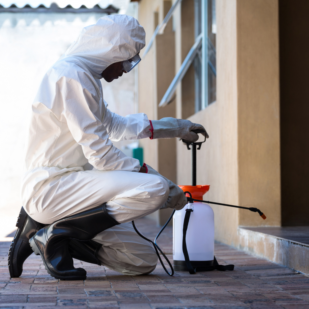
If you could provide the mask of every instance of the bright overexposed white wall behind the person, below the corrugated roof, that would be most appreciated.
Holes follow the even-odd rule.
[[[0,14],[0,241],[15,230],[21,207],[24,140],[41,78],[81,29],[99,17],[91,13]],[[113,112],[134,113],[134,78],[132,71],[112,83],[102,79],[104,99]]]

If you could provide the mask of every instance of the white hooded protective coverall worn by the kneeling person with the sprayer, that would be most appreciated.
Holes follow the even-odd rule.
[[[21,187],[26,212],[46,224],[107,202],[108,213],[122,224],[96,236],[103,244],[99,258],[127,274],[155,268],[152,245],[129,221],[162,207],[169,187],[160,176],[137,173],[139,161],[113,146],[111,140],[150,137],[150,122],[143,113],[109,111],[100,78],[144,46],[144,29],[127,15],[105,16],[82,30],[45,74],[32,104]],[[94,169],[85,171],[87,163]]]

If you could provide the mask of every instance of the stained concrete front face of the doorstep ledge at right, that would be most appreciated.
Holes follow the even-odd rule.
[[[309,274],[309,245],[239,227],[238,248],[255,256]]]

